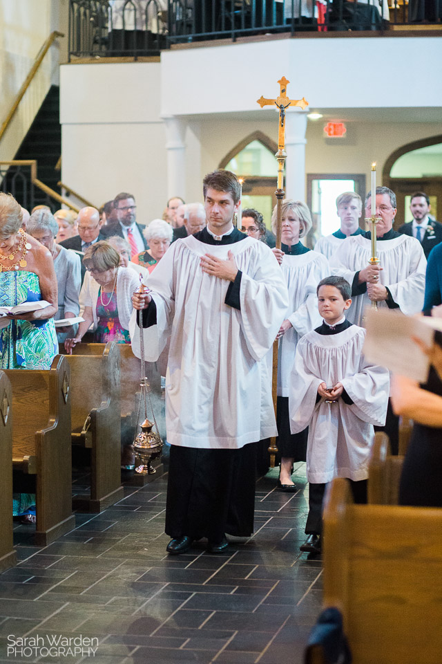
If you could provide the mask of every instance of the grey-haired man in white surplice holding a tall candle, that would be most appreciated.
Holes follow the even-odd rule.
[[[365,216],[371,216],[371,194],[365,197]],[[376,187],[378,264],[370,264],[370,231],[347,237],[333,255],[332,273],[352,286],[352,306],[347,320],[363,324],[363,311],[370,302],[412,315],[423,307],[427,261],[419,240],[393,230],[396,195],[388,187]],[[390,436],[392,452],[398,454],[398,418],[389,403],[383,430]]]

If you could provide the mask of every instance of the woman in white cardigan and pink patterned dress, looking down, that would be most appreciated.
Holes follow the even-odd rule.
[[[93,279],[84,282],[84,322],[79,324],[73,339],[66,339],[66,351],[72,353],[93,325],[95,343],[115,341],[130,344],[129,320],[132,313],[132,294],[140,286],[137,274],[119,267],[119,253],[108,242],[100,240],[86,249],[83,264]]]

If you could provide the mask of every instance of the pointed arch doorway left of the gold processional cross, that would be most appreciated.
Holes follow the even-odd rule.
[[[261,212],[270,230],[271,211],[276,205],[277,150],[276,142],[265,133],[253,131],[220,161],[220,168],[225,168],[244,180],[242,209],[254,208]]]

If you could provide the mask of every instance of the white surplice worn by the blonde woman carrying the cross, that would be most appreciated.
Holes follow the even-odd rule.
[[[290,372],[295,358],[296,344],[307,332],[321,322],[316,287],[330,275],[327,259],[316,251],[282,259],[282,276],[289,291],[289,307],[285,317],[291,322],[280,338],[278,353],[278,396],[289,396]]]

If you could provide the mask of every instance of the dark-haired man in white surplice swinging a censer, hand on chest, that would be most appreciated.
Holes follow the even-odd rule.
[[[271,250],[233,226],[236,176],[215,171],[203,192],[206,228],[171,245],[146,280],[152,293],[134,295],[131,321],[138,357],[140,317],[146,360],[170,338],[166,533],[175,554],[202,537],[220,553],[225,533],[253,532],[253,443],[276,434],[264,358],[288,306]]]

